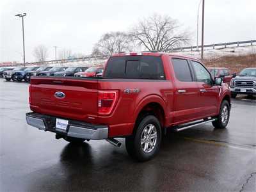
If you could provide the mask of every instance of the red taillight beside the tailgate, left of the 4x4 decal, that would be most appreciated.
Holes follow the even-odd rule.
[[[98,92],[98,113],[99,115],[109,115],[118,100],[118,91]]]

